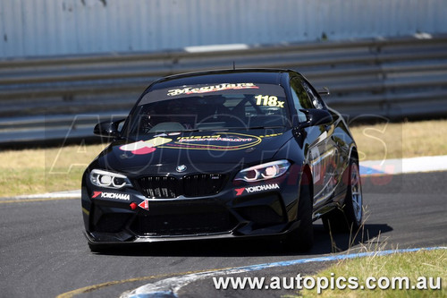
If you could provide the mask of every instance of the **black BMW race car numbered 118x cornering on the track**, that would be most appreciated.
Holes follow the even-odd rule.
[[[358,151],[342,116],[298,72],[193,72],[153,82],[82,177],[90,248],[281,235],[362,222]],[[123,122],[123,123],[122,123]],[[122,123],[120,125],[120,123]]]

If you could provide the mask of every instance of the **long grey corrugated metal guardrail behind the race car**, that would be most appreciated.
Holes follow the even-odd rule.
[[[0,145],[92,138],[92,127],[126,115],[151,81],[179,72],[295,69],[349,117],[447,115],[447,35],[0,61]]]

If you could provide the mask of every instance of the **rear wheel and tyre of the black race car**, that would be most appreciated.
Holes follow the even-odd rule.
[[[346,198],[342,209],[334,209],[322,217],[323,225],[328,232],[356,233],[362,224],[363,198],[357,159],[351,158],[349,171]]]

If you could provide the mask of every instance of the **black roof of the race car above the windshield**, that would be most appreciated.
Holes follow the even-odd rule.
[[[209,84],[215,82],[225,83],[268,83],[279,85],[284,75],[290,70],[283,69],[236,69],[212,70],[205,72],[188,72],[174,74],[155,81],[149,89],[164,89],[174,86]]]

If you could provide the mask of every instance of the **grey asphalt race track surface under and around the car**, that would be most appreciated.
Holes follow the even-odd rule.
[[[374,249],[447,244],[447,172],[386,175],[364,180],[366,225],[354,240]],[[283,251],[277,241],[157,243],[95,254],[82,235],[80,200],[0,200],[0,297],[117,297],[125,291],[216,268],[319,257],[350,248],[350,236],[333,242],[321,222],[306,254]],[[295,277],[330,262],[269,268],[244,276]],[[287,291],[217,291],[211,279],[194,282],[180,297],[281,296]]]

